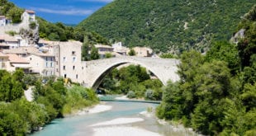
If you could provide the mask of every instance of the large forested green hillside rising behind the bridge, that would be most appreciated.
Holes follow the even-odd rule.
[[[213,40],[229,40],[255,0],[116,0],[78,24],[111,42],[154,50],[203,52]]]

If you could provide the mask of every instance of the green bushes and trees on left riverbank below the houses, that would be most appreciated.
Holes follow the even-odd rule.
[[[86,106],[97,104],[94,91],[78,85],[66,87],[55,77],[41,83],[39,77],[21,70],[0,70],[0,135],[26,135],[55,118],[62,118]],[[24,89],[33,87],[33,101],[26,101]]]

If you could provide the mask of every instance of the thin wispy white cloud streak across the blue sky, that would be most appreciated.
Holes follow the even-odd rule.
[[[36,12],[46,12],[52,14],[60,14],[60,15],[73,15],[73,16],[81,16],[81,15],[90,15],[93,10],[85,10],[85,9],[77,9],[77,8],[67,8],[67,9],[49,9],[49,8],[40,8],[40,7],[32,7],[32,10]]]

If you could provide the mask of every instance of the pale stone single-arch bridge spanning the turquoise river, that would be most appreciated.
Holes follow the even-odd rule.
[[[97,59],[86,62],[85,75],[83,81],[87,87],[97,89],[102,79],[110,73],[113,68],[126,63],[140,64],[151,73],[154,73],[164,85],[168,80],[176,82],[179,80],[178,59],[159,59],[159,58],[142,58],[142,57],[118,57],[111,59]]]

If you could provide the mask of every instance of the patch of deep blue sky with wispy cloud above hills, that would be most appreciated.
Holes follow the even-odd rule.
[[[51,22],[78,24],[113,0],[9,0]]]

